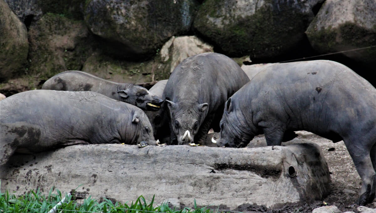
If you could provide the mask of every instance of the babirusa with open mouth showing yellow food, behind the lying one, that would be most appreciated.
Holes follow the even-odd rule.
[[[93,91],[112,99],[135,105],[143,110],[157,111],[163,100],[142,86],[115,83],[82,71],[65,71],[47,80],[42,89],[62,91]]]

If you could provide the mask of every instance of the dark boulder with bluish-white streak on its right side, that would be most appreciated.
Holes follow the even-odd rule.
[[[92,33],[108,41],[118,57],[152,56],[173,35],[190,30],[195,0],[90,0],[84,18]]]

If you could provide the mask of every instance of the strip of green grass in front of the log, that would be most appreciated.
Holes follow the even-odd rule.
[[[99,202],[91,197],[84,199],[82,204],[78,204],[74,200],[74,195],[62,195],[59,190],[56,190],[57,194],[53,194],[52,191],[53,189],[48,195],[43,195],[39,190],[21,196],[9,195],[8,192],[0,193],[0,213],[47,213],[64,197],[65,202],[57,208],[56,213],[218,213],[218,210],[197,207],[196,200],[193,208],[185,207],[182,210],[171,209],[167,204],[155,205],[154,196],[149,203],[143,196],[139,196],[130,205],[128,202],[113,203],[107,198],[103,198],[103,202]]]

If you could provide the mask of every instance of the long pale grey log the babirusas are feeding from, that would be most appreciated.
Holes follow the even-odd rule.
[[[328,193],[330,175],[314,144],[216,148],[103,144],[16,155],[0,167],[1,190],[77,190],[92,196],[178,198],[184,205],[278,207]],[[95,198],[95,197],[94,197]],[[99,198],[98,198],[99,199]]]

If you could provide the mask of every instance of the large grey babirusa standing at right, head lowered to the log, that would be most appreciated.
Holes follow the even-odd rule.
[[[347,66],[329,60],[265,68],[226,102],[219,147],[245,147],[264,133],[267,144],[306,130],[343,140],[362,179],[358,205],[376,187],[376,89]]]

